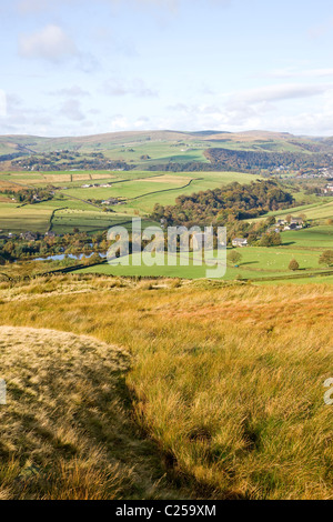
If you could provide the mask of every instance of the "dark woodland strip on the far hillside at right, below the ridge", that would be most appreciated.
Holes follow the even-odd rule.
[[[331,167],[330,153],[264,152],[212,148],[204,151],[214,170],[241,172],[272,171],[281,165],[290,170],[309,171]]]

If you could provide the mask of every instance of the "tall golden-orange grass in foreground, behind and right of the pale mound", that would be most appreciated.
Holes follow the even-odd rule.
[[[0,299],[3,324],[125,347],[137,421],[193,495],[332,499],[331,287],[73,275],[3,288]]]

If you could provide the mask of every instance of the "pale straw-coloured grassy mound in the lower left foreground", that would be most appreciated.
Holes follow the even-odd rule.
[[[165,496],[161,470],[153,478],[151,443],[129,416],[124,350],[84,335],[0,327],[0,361],[8,387],[0,499]]]

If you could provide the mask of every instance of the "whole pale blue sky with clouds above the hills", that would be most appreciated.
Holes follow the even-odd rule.
[[[0,134],[333,135],[332,0],[0,0]]]

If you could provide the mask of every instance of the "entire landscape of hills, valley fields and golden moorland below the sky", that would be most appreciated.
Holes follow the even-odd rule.
[[[332,499],[332,152],[0,137],[0,499]],[[132,218],[225,225],[225,277],[109,264]]]

